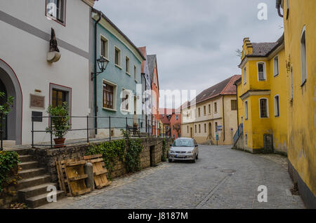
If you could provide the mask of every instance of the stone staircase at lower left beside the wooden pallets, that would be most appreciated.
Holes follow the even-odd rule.
[[[51,182],[51,176],[45,174],[44,168],[39,168],[39,163],[33,160],[33,157],[27,154],[27,149],[14,149],[20,156],[18,172],[22,177],[18,180],[18,199],[20,203],[25,203],[29,208],[37,208],[48,203],[47,191],[49,185],[57,187]],[[57,199],[65,196],[64,191],[57,191]]]

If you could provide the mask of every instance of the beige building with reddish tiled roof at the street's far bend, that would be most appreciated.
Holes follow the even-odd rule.
[[[231,76],[211,86],[181,109],[181,133],[198,143],[232,144],[237,130],[237,97],[234,82],[240,75]],[[216,140],[218,135],[218,140]]]

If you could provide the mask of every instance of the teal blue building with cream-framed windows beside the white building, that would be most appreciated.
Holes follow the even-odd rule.
[[[120,137],[121,128],[137,126],[146,131],[143,112],[141,63],[143,53],[103,13],[93,10],[93,62],[104,58],[105,71],[93,79],[93,114],[96,137]],[[96,67],[96,69],[95,69]],[[100,72],[97,63],[93,69]],[[96,88],[95,88],[96,86]],[[96,90],[95,90],[96,89]],[[95,103],[96,102],[96,103]],[[127,117],[127,119],[126,119]]]

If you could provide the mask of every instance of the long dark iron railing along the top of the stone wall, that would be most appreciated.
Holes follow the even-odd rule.
[[[152,136],[152,137],[171,137],[171,130],[166,130],[164,126],[159,126],[160,128],[156,128],[154,124],[152,124],[151,120],[145,120],[145,119],[139,119],[139,118],[129,118],[129,117],[115,117],[115,116],[70,116],[70,126],[73,126],[73,122],[77,119],[86,119],[86,124],[85,128],[70,128],[68,132],[84,132],[84,135],[86,135],[85,138],[82,140],[76,141],[76,140],[69,140],[69,142],[65,142],[63,144],[53,144],[53,132],[58,132],[58,130],[53,130],[53,123],[52,119],[62,119],[65,118],[65,116],[32,116],[32,148],[34,147],[51,147],[53,146],[64,146],[67,144],[76,144],[76,143],[89,143],[92,141],[105,141],[105,140],[114,140],[114,139],[119,139],[123,138],[123,136],[114,136],[112,130],[114,131],[115,129],[121,130],[124,129],[126,130],[127,133],[131,135],[131,137],[147,137],[147,136]],[[91,124],[90,119],[103,119],[105,121],[103,122],[98,122],[99,127],[98,128],[92,128],[89,126]],[[38,120],[43,120],[43,119],[48,119],[48,129],[46,130],[37,130],[35,129],[34,125],[37,123]],[[161,128],[162,127],[162,128]],[[108,130],[108,137],[93,137],[91,138],[90,136],[93,135],[91,134],[91,130]],[[159,135],[156,135],[157,133]],[[34,143],[34,137],[38,133],[47,133],[50,135],[50,142],[46,142],[43,144],[40,143]],[[93,131],[94,133],[94,131]],[[154,135],[152,135],[154,134]],[[66,136],[67,138],[67,136]]]

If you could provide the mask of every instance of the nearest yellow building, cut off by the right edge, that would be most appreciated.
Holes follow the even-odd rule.
[[[316,208],[316,1],[277,0],[277,9],[284,20],[289,173],[308,208]]]

